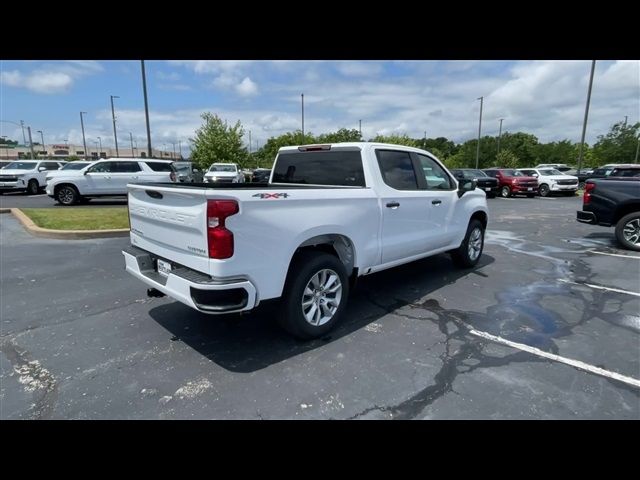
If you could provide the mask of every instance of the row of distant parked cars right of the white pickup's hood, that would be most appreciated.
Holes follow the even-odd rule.
[[[569,175],[571,167],[558,164],[543,164],[533,168],[492,167],[483,170],[461,168],[451,170],[458,180],[476,180],[478,188],[489,198],[497,195],[508,198],[514,195],[546,197],[552,193],[575,195],[584,182],[591,178],[640,177],[640,165],[610,164],[579,175]],[[565,170],[564,172],[562,170]]]

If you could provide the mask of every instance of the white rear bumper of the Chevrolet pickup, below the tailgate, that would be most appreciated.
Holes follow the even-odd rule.
[[[130,246],[125,248],[122,254],[125,269],[131,275],[200,312],[243,312],[257,305],[256,288],[249,280],[217,280],[175,264],[172,272],[165,277],[156,270],[157,257],[151,253]]]

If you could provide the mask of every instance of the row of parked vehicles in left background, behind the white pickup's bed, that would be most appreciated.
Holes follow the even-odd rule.
[[[258,169],[251,181],[265,182],[271,170]],[[107,158],[96,161],[63,162],[18,160],[0,170],[0,194],[45,191],[62,205],[91,198],[127,194],[128,183],[244,183],[245,173],[233,163],[214,163],[206,172],[191,162],[147,158]]]

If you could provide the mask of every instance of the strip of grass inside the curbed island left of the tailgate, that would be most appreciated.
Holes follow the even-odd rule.
[[[108,230],[129,228],[127,207],[21,208],[33,223],[54,230]]]

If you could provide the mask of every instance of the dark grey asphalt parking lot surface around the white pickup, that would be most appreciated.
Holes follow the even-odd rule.
[[[0,215],[0,418],[639,419],[640,253],[576,222],[580,201],[489,200],[477,268],[364,277],[311,342],[272,305],[147,298],[126,238],[35,238]]]

